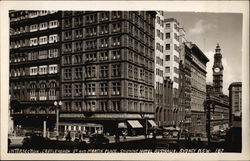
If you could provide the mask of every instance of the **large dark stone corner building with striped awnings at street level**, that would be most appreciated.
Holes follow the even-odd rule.
[[[60,131],[96,123],[114,134],[154,119],[155,15],[63,12]]]

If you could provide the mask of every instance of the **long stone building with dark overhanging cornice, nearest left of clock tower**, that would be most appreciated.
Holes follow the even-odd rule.
[[[194,135],[205,134],[206,118],[203,103],[206,100],[206,63],[209,59],[195,44],[188,43],[191,50],[191,127]]]

